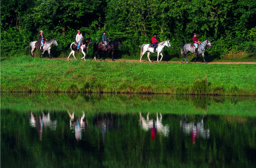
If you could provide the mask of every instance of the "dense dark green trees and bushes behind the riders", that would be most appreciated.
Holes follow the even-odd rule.
[[[118,57],[139,58],[141,44],[170,40],[165,54],[180,55],[180,46],[210,38],[209,56],[229,52],[256,54],[255,0],[2,0],[1,56],[28,54],[29,43],[40,30],[59,44],[55,57],[75,41],[77,30],[92,42],[101,41],[105,30],[110,40],[121,39]],[[89,54],[93,54],[92,47]],[[178,56],[179,57],[179,56]]]

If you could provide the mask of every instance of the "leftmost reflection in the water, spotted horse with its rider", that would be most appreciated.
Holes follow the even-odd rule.
[[[57,120],[51,121],[49,111],[48,111],[47,115],[44,115],[44,113],[42,112],[42,114],[39,117],[35,117],[33,111],[31,111],[29,124],[31,127],[38,128],[40,140],[42,140],[43,128],[49,127],[51,130],[56,130]]]

